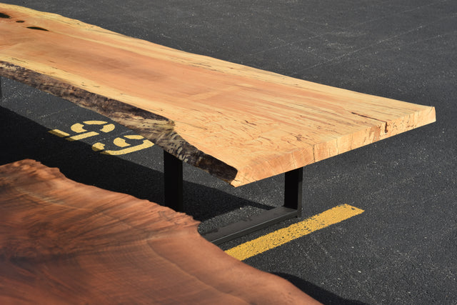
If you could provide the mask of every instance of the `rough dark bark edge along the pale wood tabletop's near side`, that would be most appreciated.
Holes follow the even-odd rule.
[[[230,183],[236,177],[238,171],[233,166],[214,158],[214,156],[205,154],[189,144],[174,131],[174,121],[164,116],[153,114],[115,99],[109,99],[106,96],[94,94],[50,76],[9,64],[6,61],[0,61],[0,76],[20,81],[107,116],[113,121],[138,132],[178,159],[203,169],[219,179]]]

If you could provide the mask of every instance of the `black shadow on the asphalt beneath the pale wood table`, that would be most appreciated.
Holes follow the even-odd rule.
[[[46,166],[59,168],[74,181],[164,204],[163,172],[116,156],[96,153],[81,141],[64,141],[49,134],[46,127],[4,107],[0,107],[0,122],[0,164],[34,159]],[[184,212],[199,221],[239,210],[243,206],[273,209],[273,206],[189,181],[184,181],[184,200]]]

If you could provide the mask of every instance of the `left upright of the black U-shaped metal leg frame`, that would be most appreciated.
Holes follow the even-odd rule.
[[[165,205],[183,211],[183,162],[164,151]]]

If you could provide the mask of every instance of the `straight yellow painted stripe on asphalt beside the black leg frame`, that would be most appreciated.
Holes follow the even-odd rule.
[[[291,224],[291,226],[286,228],[279,229],[278,231],[271,232],[270,234],[266,234],[226,250],[226,254],[243,261],[244,259],[248,259],[267,250],[276,248],[277,246],[286,244],[289,241],[293,241],[293,239],[298,239],[298,237],[308,235],[313,231],[323,229],[332,224],[337,224],[338,222],[362,213],[363,210],[348,204],[335,206],[321,214],[317,214],[296,224]]]

